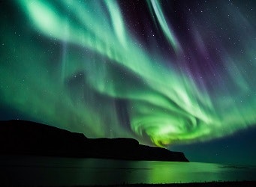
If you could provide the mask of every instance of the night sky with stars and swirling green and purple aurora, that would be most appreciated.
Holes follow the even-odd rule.
[[[0,1],[0,120],[256,165],[255,10],[253,0]]]

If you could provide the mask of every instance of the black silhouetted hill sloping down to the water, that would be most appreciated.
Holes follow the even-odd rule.
[[[25,120],[0,121],[0,154],[188,162],[183,153],[139,144],[132,138],[86,138]]]

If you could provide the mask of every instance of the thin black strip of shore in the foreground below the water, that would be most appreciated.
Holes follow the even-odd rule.
[[[173,184],[122,184],[122,185],[107,185],[107,186],[69,186],[69,187],[182,187],[182,186],[206,186],[206,187],[213,187],[213,186],[256,186],[256,181],[242,181],[242,182],[209,182],[209,183],[173,183]],[[14,186],[12,186],[14,187]],[[17,186],[23,187],[23,186]],[[34,186],[30,186],[34,187]],[[44,187],[44,186],[40,186]],[[55,187],[55,186],[47,186],[47,187]],[[68,187],[68,186],[63,186]]]

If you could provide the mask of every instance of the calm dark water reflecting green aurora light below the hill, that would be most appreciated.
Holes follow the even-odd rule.
[[[256,180],[256,167],[196,162],[0,156],[2,185],[79,186],[236,180]]]

